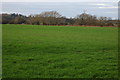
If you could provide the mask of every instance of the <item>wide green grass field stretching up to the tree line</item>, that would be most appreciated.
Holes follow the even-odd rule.
[[[118,78],[118,28],[2,28],[3,78]]]

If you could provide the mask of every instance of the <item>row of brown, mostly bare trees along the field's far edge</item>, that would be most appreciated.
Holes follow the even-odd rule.
[[[117,26],[118,20],[110,17],[97,17],[82,13],[74,18],[67,18],[56,11],[47,11],[40,14],[25,16],[22,14],[0,14],[2,24],[31,24],[31,25],[84,25],[84,26]]]

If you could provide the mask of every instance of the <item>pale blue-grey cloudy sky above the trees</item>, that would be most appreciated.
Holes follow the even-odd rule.
[[[118,18],[117,2],[3,2],[2,13],[39,14],[44,11],[57,11],[66,17],[86,13],[96,16]]]

